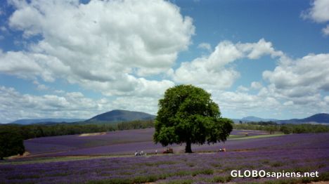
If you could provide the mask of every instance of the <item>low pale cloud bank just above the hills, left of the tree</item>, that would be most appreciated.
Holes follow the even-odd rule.
[[[87,98],[80,92],[56,90],[42,96],[23,94],[0,86],[0,119],[8,123],[27,118],[79,118],[89,119],[96,114],[114,109],[134,110],[156,114],[157,98],[118,97],[113,99]]]

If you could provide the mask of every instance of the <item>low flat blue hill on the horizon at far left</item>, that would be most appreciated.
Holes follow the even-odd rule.
[[[47,118],[47,119],[18,119],[11,124],[43,124],[43,123],[71,123],[76,121],[84,121],[84,119],[63,119],[63,118]]]

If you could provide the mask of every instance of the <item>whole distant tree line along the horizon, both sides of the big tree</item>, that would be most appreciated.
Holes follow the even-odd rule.
[[[39,138],[47,136],[65,136],[80,133],[96,133],[106,131],[121,131],[129,129],[153,128],[154,121],[126,121],[117,124],[0,124],[0,130],[19,133],[24,139]],[[289,133],[321,133],[329,132],[329,126],[320,124],[277,124],[273,121],[248,122],[246,124],[234,124],[233,129],[259,130],[274,133],[277,131]]]

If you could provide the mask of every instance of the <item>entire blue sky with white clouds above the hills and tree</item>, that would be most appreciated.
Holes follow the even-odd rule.
[[[329,3],[5,1],[0,122],[156,114],[177,84],[212,93],[224,117],[329,110]]]

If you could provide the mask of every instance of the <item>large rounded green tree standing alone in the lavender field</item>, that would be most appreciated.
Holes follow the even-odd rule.
[[[163,146],[186,143],[186,152],[192,152],[191,144],[225,141],[233,126],[231,119],[221,118],[219,106],[202,88],[179,85],[168,88],[159,100],[153,140]]]

